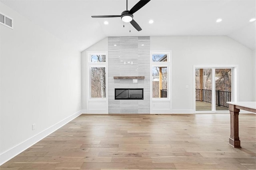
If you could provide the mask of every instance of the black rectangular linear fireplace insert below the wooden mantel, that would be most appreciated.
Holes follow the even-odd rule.
[[[143,100],[143,89],[115,89],[115,100]]]

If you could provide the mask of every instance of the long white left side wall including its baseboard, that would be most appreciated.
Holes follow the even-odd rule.
[[[0,2],[0,164],[81,110],[81,54]],[[36,129],[32,130],[32,124]]]

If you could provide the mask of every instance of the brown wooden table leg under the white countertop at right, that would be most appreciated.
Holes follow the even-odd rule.
[[[235,105],[229,104],[230,111],[230,137],[229,144],[234,146],[234,148],[241,148],[240,140],[238,136],[238,115],[240,109],[236,109]]]

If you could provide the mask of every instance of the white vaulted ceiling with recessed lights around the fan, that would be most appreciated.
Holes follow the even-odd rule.
[[[128,10],[138,1],[128,0]],[[108,36],[226,35],[255,49],[256,22],[249,22],[256,17],[255,0],[151,0],[134,13],[134,20],[142,28],[140,32],[120,18],[91,18],[120,15],[126,10],[126,0],[1,2],[80,51]],[[222,22],[217,23],[218,18]],[[149,20],[154,23],[149,24]]]

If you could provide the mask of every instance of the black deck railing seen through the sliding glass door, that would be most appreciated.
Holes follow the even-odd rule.
[[[201,89],[196,89],[196,101],[201,101]],[[216,101],[217,106],[228,107],[227,101],[231,101],[230,91],[216,90]],[[212,103],[212,90],[202,89],[202,101]]]

